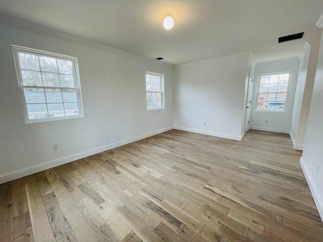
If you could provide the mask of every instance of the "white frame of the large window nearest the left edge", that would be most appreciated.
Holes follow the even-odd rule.
[[[22,101],[22,105],[23,105],[24,118],[25,118],[25,123],[26,124],[28,124],[28,123],[46,122],[46,121],[51,121],[51,120],[62,120],[62,119],[71,119],[71,118],[84,117],[83,104],[82,104],[82,94],[81,94],[81,84],[80,84],[80,75],[79,75],[77,57],[72,57],[72,56],[68,56],[68,55],[57,54],[57,53],[52,53],[52,52],[48,52],[48,51],[32,49],[32,48],[27,48],[27,47],[22,47],[22,46],[17,46],[17,45],[12,45],[12,48],[13,48],[13,53],[14,53],[14,61],[15,61],[18,85],[19,85],[19,89],[20,89],[21,101]],[[30,54],[35,54],[35,55],[39,55],[39,56],[46,56],[46,57],[52,57],[52,58],[57,58],[57,59],[63,59],[63,60],[66,60],[66,61],[71,61],[72,65],[73,65],[73,76],[74,76],[74,86],[75,87],[70,88],[70,87],[47,87],[47,86],[26,86],[26,85],[24,85],[23,79],[22,79],[22,74],[21,74],[19,56],[18,56],[19,52],[30,53]],[[25,93],[24,93],[24,88],[76,90],[79,114],[78,115],[70,115],[70,116],[45,117],[45,118],[29,119],[27,103],[26,103],[26,98],[25,98]],[[63,101],[63,103],[64,103],[64,101]],[[47,104],[48,103],[46,101],[46,106],[47,106]],[[63,108],[64,108],[64,105],[63,105]],[[47,114],[48,114],[48,109],[47,109]]]

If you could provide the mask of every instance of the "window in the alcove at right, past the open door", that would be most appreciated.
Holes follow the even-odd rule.
[[[286,111],[290,73],[260,75],[257,99],[259,111]]]

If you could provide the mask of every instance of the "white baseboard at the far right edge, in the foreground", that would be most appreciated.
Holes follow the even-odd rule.
[[[309,170],[307,169],[306,162],[304,161],[303,157],[301,157],[300,164],[305,175],[309,190],[311,191],[311,194],[313,196],[317,211],[323,222],[323,198],[319,194],[319,191],[310,175]]]

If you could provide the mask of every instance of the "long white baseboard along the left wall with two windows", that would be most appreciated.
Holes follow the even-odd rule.
[[[26,168],[23,168],[23,169],[20,169],[20,170],[15,170],[15,171],[12,171],[12,172],[8,172],[6,174],[1,174],[0,175],[0,184],[7,183],[8,181],[15,180],[15,179],[24,177],[26,175],[31,175],[31,174],[34,174],[34,173],[37,173],[37,172],[40,172],[40,171],[43,171],[43,170],[46,170],[46,169],[50,169],[50,168],[56,167],[58,165],[63,165],[63,164],[66,164],[66,163],[69,163],[69,162],[72,162],[72,161],[75,161],[75,160],[78,160],[78,159],[82,159],[84,157],[94,155],[94,154],[97,154],[97,153],[100,153],[100,152],[103,152],[103,151],[106,151],[106,150],[114,149],[114,148],[117,148],[119,146],[126,145],[126,144],[129,144],[129,143],[138,141],[138,140],[142,140],[142,139],[148,138],[148,137],[153,136],[153,135],[164,133],[164,132],[169,131],[169,130],[173,130],[173,127],[168,127],[168,128],[165,128],[165,129],[153,131],[153,132],[150,132],[150,133],[147,133],[147,134],[135,137],[135,138],[122,140],[122,141],[119,141],[119,142],[116,142],[116,143],[113,143],[113,144],[100,146],[100,147],[97,147],[97,148],[94,148],[94,149],[90,149],[90,150],[82,151],[82,152],[79,152],[79,153],[76,153],[76,154],[61,157],[61,158],[58,158],[58,159],[55,159],[55,160],[50,160],[50,161],[43,162],[43,163],[40,163],[40,164],[37,164],[37,165],[29,166],[29,167],[26,167]]]

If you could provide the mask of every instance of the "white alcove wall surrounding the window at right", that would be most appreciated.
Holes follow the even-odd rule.
[[[274,62],[259,63],[255,67],[250,129],[271,131],[288,134],[291,129],[293,105],[295,97],[295,89],[297,83],[297,76],[299,70],[300,60],[298,58],[283,59]],[[273,111],[256,111],[257,106],[257,92],[259,88],[259,75],[271,74],[278,72],[291,72],[291,79],[289,85],[289,93],[287,97],[287,111],[273,112]],[[268,123],[265,123],[265,120]]]

